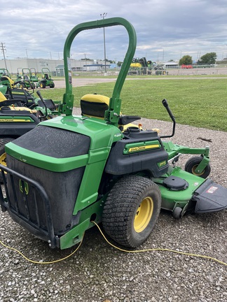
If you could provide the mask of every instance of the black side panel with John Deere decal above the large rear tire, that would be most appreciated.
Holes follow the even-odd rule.
[[[125,175],[147,171],[152,177],[167,172],[168,156],[156,131],[124,131],[124,139],[112,148],[106,173]]]

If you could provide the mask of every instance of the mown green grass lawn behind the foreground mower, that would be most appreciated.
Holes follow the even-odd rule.
[[[111,96],[113,83],[73,88],[74,106],[84,94]],[[227,131],[227,80],[221,78],[178,80],[126,80],[121,92],[121,111],[149,119],[168,120],[161,101],[167,99],[179,124]],[[62,100],[65,89],[41,90],[43,97]]]

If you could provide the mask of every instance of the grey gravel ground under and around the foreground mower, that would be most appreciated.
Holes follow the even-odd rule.
[[[78,112],[78,110],[76,110]],[[172,124],[142,119],[143,127],[170,134]],[[174,143],[211,148],[210,177],[227,187],[227,133],[177,125]],[[209,141],[209,142],[208,142]],[[180,159],[184,164],[185,158]],[[163,247],[227,262],[227,212],[174,220],[161,212],[142,249]],[[0,213],[0,240],[29,259],[52,261],[74,251],[50,250],[7,213]],[[210,259],[155,251],[129,254],[106,243],[97,227],[85,233],[79,250],[56,264],[32,264],[0,247],[0,301],[227,301],[227,267]]]

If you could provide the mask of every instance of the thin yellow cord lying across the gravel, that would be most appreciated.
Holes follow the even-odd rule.
[[[123,250],[120,247],[117,247],[116,245],[113,245],[112,243],[109,242],[109,240],[106,239],[106,237],[104,236],[104,233],[102,233],[102,230],[100,229],[100,227],[97,225],[96,222],[93,222],[96,227],[99,229],[99,232],[102,234],[103,238],[106,240],[106,242],[111,245],[112,247],[116,248],[116,250],[120,250],[121,252],[128,252],[128,253],[137,253],[137,252],[153,252],[153,251],[165,251],[165,252],[174,252],[176,254],[184,254],[186,256],[191,256],[191,257],[199,257],[199,258],[205,258],[205,259],[209,259],[209,260],[213,260],[218,262],[219,264],[222,264],[224,266],[227,266],[226,262],[220,261],[218,259],[215,259],[213,257],[209,257],[209,256],[205,256],[205,255],[200,255],[200,254],[191,254],[188,252],[179,252],[177,250],[170,250],[167,248],[153,248],[153,249],[146,249],[146,250]],[[34,261],[32,259],[27,258],[24,254],[22,254],[22,252],[20,252],[19,250],[15,249],[14,247],[9,247],[8,245],[5,245],[1,240],[0,243],[1,245],[3,245],[4,247],[8,248],[9,250],[14,250],[15,252],[18,252],[18,254],[20,254],[23,258],[25,258],[27,261],[32,262],[33,264],[55,264],[57,262],[63,261],[69,257],[71,257],[73,254],[75,254],[76,251],[78,251],[79,247],[81,247],[81,244],[83,242],[83,238],[81,240],[81,242],[79,243],[78,247],[76,247],[76,250],[74,250],[74,252],[71,252],[71,254],[69,254],[68,256],[61,258],[61,259],[57,259],[54,261]]]

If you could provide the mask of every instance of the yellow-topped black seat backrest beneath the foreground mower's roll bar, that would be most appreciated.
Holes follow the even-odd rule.
[[[101,94],[85,94],[81,97],[81,114],[104,119],[109,108],[109,97]]]

